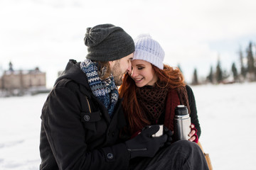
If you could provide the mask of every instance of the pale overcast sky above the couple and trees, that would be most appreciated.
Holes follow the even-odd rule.
[[[256,42],[255,16],[255,0],[1,0],[0,73],[10,61],[39,67],[53,86],[69,59],[85,59],[86,28],[112,23],[132,38],[149,33],[189,82],[194,68],[206,76],[218,56],[227,71],[238,63],[239,49]]]

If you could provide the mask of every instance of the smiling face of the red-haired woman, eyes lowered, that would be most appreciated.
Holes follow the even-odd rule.
[[[138,87],[153,86],[158,79],[151,63],[144,60],[132,60],[132,72],[128,74]]]

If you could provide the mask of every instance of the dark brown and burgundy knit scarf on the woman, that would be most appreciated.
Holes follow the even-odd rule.
[[[160,86],[160,87],[159,87]],[[156,123],[162,113],[166,113],[164,125],[174,129],[174,109],[179,104],[187,106],[190,113],[188,94],[185,86],[177,89],[161,88],[159,86],[144,86],[137,88],[137,100],[145,118],[151,123]]]

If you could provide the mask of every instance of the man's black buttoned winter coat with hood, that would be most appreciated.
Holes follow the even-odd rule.
[[[127,169],[125,125],[119,99],[112,119],[92,94],[80,63],[70,60],[43,106],[40,169]]]

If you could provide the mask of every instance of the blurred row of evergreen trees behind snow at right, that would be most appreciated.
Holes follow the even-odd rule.
[[[238,66],[233,62],[228,72],[221,67],[220,57],[218,57],[215,69],[211,65],[207,77],[204,77],[203,79],[198,79],[198,72],[195,68],[193,70],[191,84],[231,84],[237,82],[242,83],[245,81],[256,81],[256,52],[254,53],[254,47],[255,45],[253,45],[252,42],[249,42],[249,45],[245,49],[245,56],[240,49],[238,52]]]

